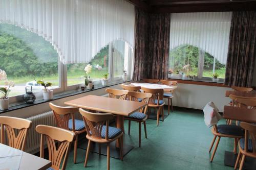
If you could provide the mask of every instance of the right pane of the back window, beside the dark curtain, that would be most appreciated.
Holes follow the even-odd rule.
[[[204,71],[203,77],[212,77],[212,74],[216,72],[219,77],[225,78],[226,65],[221,64],[214,56],[211,56],[209,53],[204,54]]]

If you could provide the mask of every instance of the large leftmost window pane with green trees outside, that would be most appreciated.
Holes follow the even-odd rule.
[[[9,96],[24,94],[28,85],[33,92],[41,91],[34,79],[43,78],[53,83],[52,88],[59,87],[57,52],[50,42],[26,29],[0,24],[0,61],[0,69],[15,83]]]

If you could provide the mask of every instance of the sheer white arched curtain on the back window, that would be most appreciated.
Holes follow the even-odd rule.
[[[170,50],[194,45],[226,64],[231,15],[231,12],[171,14]]]

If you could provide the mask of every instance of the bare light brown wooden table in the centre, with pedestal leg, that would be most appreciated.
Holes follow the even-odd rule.
[[[123,131],[124,116],[129,116],[147,105],[146,103],[142,102],[119,100],[98,95],[86,95],[78,99],[67,101],[65,102],[65,104],[77,108],[87,109],[91,112],[98,111],[104,113],[112,113],[116,116],[116,127],[122,129]],[[118,141],[116,141],[115,148],[119,147],[122,147],[123,155],[126,155],[133,149],[133,147],[127,145],[125,146],[124,144],[122,144],[122,146],[119,146]],[[113,149],[111,148],[111,150]],[[111,154],[112,153],[113,152],[111,152]],[[113,154],[115,154],[115,152]],[[115,156],[112,157],[120,158],[119,153],[115,154]]]

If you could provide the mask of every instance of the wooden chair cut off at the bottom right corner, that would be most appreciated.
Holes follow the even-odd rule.
[[[241,161],[240,170],[243,169],[246,156],[256,158],[256,125],[241,122],[241,127],[245,130],[245,137],[239,140],[239,153],[234,165],[234,169],[237,169]]]

